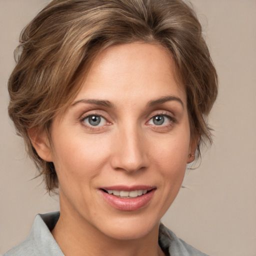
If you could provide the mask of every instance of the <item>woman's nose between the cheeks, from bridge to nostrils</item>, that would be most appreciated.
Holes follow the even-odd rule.
[[[138,128],[123,128],[115,134],[111,154],[111,166],[115,170],[133,173],[148,165],[145,136]]]

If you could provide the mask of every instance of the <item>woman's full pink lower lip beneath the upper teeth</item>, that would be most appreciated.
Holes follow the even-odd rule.
[[[147,203],[149,203],[149,201],[153,197],[155,189],[152,189],[146,194],[143,194],[134,198],[120,198],[113,194],[108,194],[103,190],[99,190],[99,191],[101,192],[105,201],[110,206],[119,210],[131,211],[131,210],[140,209],[144,207]]]

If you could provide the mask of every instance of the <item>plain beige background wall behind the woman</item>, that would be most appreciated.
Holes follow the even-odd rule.
[[[6,82],[22,27],[47,0],[0,0],[0,254],[28,233],[34,215],[58,209],[7,117]],[[256,0],[192,0],[219,74],[210,116],[214,145],[163,218],[212,256],[256,255]]]

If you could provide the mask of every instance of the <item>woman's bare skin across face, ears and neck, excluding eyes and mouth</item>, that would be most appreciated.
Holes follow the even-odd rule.
[[[99,125],[91,125],[88,115],[102,116]],[[196,148],[169,53],[139,42],[102,51],[51,132],[53,147],[44,133],[31,140],[40,157],[53,161],[59,179],[60,218],[52,234],[63,253],[162,255],[159,221]],[[112,185],[155,189],[146,205],[127,211],[104,200],[100,187]]]

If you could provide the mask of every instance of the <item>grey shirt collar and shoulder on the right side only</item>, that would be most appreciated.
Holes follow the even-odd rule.
[[[193,246],[178,238],[171,230],[160,224],[159,244],[172,256],[208,256]]]

